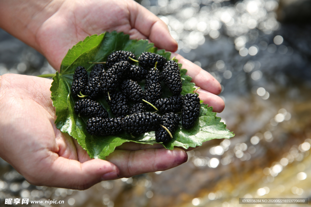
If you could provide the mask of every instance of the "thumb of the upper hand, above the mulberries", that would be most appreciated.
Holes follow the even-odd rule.
[[[130,12],[132,27],[148,37],[156,47],[175,52],[178,44],[169,34],[167,25],[145,7],[134,1],[132,3],[135,4],[132,7],[135,11]]]

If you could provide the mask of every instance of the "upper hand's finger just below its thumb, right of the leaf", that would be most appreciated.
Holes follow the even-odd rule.
[[[220,94],[220,83],[209,72],[203,70],[201,67],[191,61],[188,61],[179,54],[173,53],[172,56],[176,56],[178,62],[183,64],[183,68],[188,70],[186,74],[192,77],[191,82],[206,91],[214,94]]]

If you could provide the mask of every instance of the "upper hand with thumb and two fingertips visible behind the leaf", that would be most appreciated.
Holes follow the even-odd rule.
[[[172,52],[178,47],[165,23],[133,0],[12,0],[0,2],[0,12],[0,27],[41,52],[56,69],[73,45],[105,31],[149,39],[156,47]],[[213,106],[213,111],[221,112],[224,101],[215,95],[221,92],[220,83],[182,56],[173,56],[201,87],[197,91],[200,99]]]

